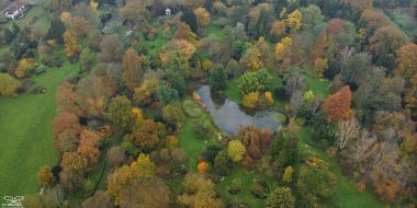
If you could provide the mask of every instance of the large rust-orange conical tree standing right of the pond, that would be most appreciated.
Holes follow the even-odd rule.
[[[330,95],[322,105],[322,109],[327,113],[327,122],[336,123],[341,119],[350,118],[352,93],[350,86],[346,85],[340,91]]]

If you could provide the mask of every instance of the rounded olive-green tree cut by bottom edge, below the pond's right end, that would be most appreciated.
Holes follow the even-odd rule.
[[[291,193],[291,188],[278,187],[266,200],[267,208],[293,208],[295,207],[295,197]]]

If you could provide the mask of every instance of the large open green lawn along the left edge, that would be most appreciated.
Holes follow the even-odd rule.
[[[0,97],[0,196],[36,193],[40,166],[57,162],[52,138],[55,94],[63,80],[78,68],[65,62],[60,69],[34,77],[36,84],[47,89],[45,94]]]

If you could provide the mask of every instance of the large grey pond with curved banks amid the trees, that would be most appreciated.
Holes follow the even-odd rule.
[[[250,125],[274,131],[282,126],[281,122],[285,118],[283,114],[274,111],[245,113],[237,103],[225,97],[212,96],[208,85],[201,86],[196,93],[207,106],[216,126],[229,135],[236,135],[240,126]]]

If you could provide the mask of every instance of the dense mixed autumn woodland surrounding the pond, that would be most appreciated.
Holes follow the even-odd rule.
[[[44,44],[37,43],[64,46],[63,54],[80,60],[87,71],[63,83],[57,94],[54,139],[61,159],[38,174],[49,192],[57,184],[65,193],[88,192],[102,142],[110,130],[119,130],[124,138],[109,150],[113,171],[105,192],[82,207],[238,206],[245,203],[223,201],[214,183],[240,165],[271,175],[281,186],[269,195],[262,182],[253,188],[268,207],[323,205],[336,192],[336,175],[317,157],[297,154],[295,119],[278,132],[243,128],[225,141],[227,148],[207,149],[195,164],[201,173],[188,174],[183,192],[173,198],[160,177],[191,169],[176,138],[191,108],[180,103],[192,94],[189,83],[205,81],[222,91],[227,79],[236,78],[248,108],[272,107],[273,97],[285,100],[289,115],[314,127],[315,145],[340,161],[359,189],[370,185],[386,204],[415,203],[417,45],[372,10],[372,1],[131,0],[115,3],[114,15],[124,25],[113,22],[104,35],[98,31],[97,9],[106,5],[92,2],[54,0],[55,26]],[[177,15],[155,28],[155,11],[167,7]],[[224,36],[206,36],[211,25]],[[133,35],[126,36],[129,30]],[[167,41],[157,55],[136,34],[150,31]],[[19,68],[11,69],[15,73]],[[331,80],[331,95],[314,94],[307,73]],[[271,86],[274,77],[283,80],[281,88]],[[204,136],[204,129],[194,127],[196,135]]]

